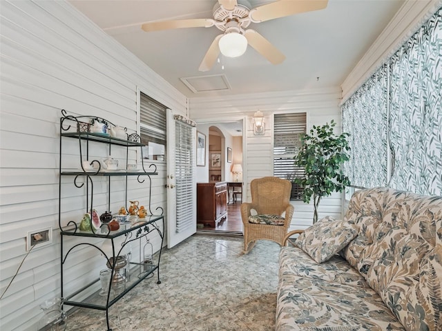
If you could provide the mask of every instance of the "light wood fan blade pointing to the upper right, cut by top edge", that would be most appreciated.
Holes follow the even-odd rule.
[[[301,12],[324,9],[328,2],[328,0],[280,0],[252,9],[250,17],[255,23],[264,22]]]

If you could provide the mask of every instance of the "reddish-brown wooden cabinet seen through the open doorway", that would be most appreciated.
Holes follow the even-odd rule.
[[[227,182],[197,183],[197,222],[216,227],[227,217]]]

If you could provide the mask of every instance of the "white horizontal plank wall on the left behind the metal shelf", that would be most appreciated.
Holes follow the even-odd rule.
[[[0,132],[0,291],[3,293],[26,254],[26,233],[52,226],[53,243],[35,248],[0,302],[0,328],[37,330],[39,304],[59,297],[58,230],[59,118],[104,117],[137,129],[137,88],[186,115],[187,100],[126,48],[65,1],[1,1],[1,132]],[[64,166],[77,168],[77,142],[64,143]],[[93,156],[105,157],[97,147]],[[131,154],[130,157],[134,157]],[[123,159],[123,156],[121,156]],[[134,157],[135,158],[135,157]],[[157,161],[152,209],[166,211],[166,164]],[[119,177],[117,177],[119,178]],[[122,205],[124,190],[115,179],[111,203]],[[120,188],[119,188],[120,187]],[[128,197],[146,205],[148,186],[131,177]],[[106,182],[98,180],[94,205],[106,208]],[[79,221],[84,192],[63,179],[62,221]],[[116,210],[113,210],[116,212]],[[77,240],[71,240],[73,245]],[[160,241],[153,239],[155,249]],[[98,245],[100,242],[96,240]],[[133,259],[138,248],[133,245]],[[97,250],[79,248],[65,269],[66,290],[88,283],[104,268]],[[69,306],[65,306],[70,308]]]

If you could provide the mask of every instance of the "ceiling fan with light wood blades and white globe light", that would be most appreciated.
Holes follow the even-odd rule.
[[[245,3],[244,1],[241,1]],[[282,63],[285,55],[265,37],[252,29],[245,30],[250,23],[260,23],[301,12],[310,12],[327,7],[328,0],[279,0],[249,9],[250,6],[237,0],[218,0],[213,7],[213,19],[179,19],[144,23],[146,32],[179,28],[211,28],[215,26],[224,33],[219,34],[207,50],[200,64],[200,71],[210,70],[220,52],[227,57],[239,57],[253,47],[273,64]]]

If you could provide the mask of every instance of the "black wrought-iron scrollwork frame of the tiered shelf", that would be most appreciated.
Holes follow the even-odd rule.
[[[157,283],[161,283],[160,281],[160,258],[161,258],[161,250],[162,250],[162,243],[164,241],[164,235],[161,232],[161,229],[164,230],[164,217],[162,217],[163,209],[158,207],[156,210],[161,209],[161,215],[158,216],[152,216],[151,212],[151,190],[152,190],[152,180],[151,175],[156,174],[157,172],[157,166],[155,164],[151,165],[145,165],[144,164],[144,157],[143,157],[143,144],[141,141],[141,137],[139,134],[133,133],[133,134],[127,134],[126,133],[126,139],[120,139],[119,137],[111,137],[109,134],[104,134],[101,132],[95,132],[96,129],[99,128],[93,128],[93,121],[99,121],[102,123],[106,123],[106,125],[115,126],[111,121],[108,121],[107,119],[104,119],[102,117],[93,117],[93,116],[73,116],[68,115],[66,110],[61,110],[61,118],[60,118],[60,139],[59,139],[59,228],[61,230],[61,297],[64,296],[64,263],[66,263],[66,260],[68,259],[68,256],[70,256],[70,253],[73,252],[73,250],[78,249],[80,246],[90,246],[92,248],[95,248],[97,252],[102,254],[104,258],[106,258],[106,265],[108,268],[111,268],[112,273],[111,277],[113,277],[114,272],[118,272],[119,266],[117,265],[116,258],[122,256],[122,252],[124,247],[128,245],[128,243],[131,243],[132,241],[139,240],[140,245],[143,241],[143,237],[148,241],[148,234],[151,232],[157,231],[159,236],[161,237],[161,244],[160,244],[160,250],[159,254],[157,254],[158,262],[157,265],[153,265],[153,268],[149,269],[147,273],[142,274],[142,277],[137,277],[137,279],[131,280],[132,283],[128,285],[128,288],[124,288],[122,292],[117,294],[115,298],[111,298],[111,285],[108,287],[108,297],[106,299],[106,303],[104,305],[95,305],[91,303],[87,303],[85,301],[75,301],[73,299],[78,293],[83,292],[84,290],[88,290],[90,286],[97,283],[98,279],[93,280],[90,283],[87,283],[84,285],[83,288],[80,288],[75,292],[75,294],[68,296],[68,299],[66,301],[69,305],[75,305],[85,308],[93,308],[93,309],[99,309],[99,310],[106,310],[106,323],[108,325],[109,329],[109,318],[108,318],[108,309],[110,306],[116,301],[121,299],[126,292],[131,290],[135,285],[143,281],[148,275],[152,274],[157,271]],[[98,127],[98,126],[97,126]],[[104,131],[104,126],[102,126]],[[91,132],[94,131],[94,132]],[[98,130],[97,130],[98,131]],[[124,131],[126,132],[126,128],[124,128]],[[113,134],[113,132],[111,132]],[[117,134],[115,134],[117,135]],[[63,139],[77,139],[78,141],[78,152],[79,152],[79,166],[75,167],[75,170],[72,170],[73,166],[70,164],[68,167],[66,167],[66,170],[63,170],[63,146],[64,142]],[[102,163],[100,163],[99,160],[93,159],[93,157],[90,160],[89,159],[89,150],[92,146],[92,148],[95,149],[94,143],[105,143],[108,146],[108,154],[111,154],[111,146],[119,146],[117,148],[125,148],[126,152],[126,164],[128,163],[128,152],[129,148],[140,148],[141,149],[141,162],[142,162],[142,170],[143,172],[137,172],[136,174],[131,171],[121,172],[121,173],[114,173],[114,172],[108,172],[104,173],[102,172]],[[86,159],[88,161],[87,163],[83,163],[83,160]],[[146,171],[147,169],[147,171]],[[97,178],[103,178],[107,179],[107,198],[108,198],[108,210],[111,209],[111,178],[112,176],[125,176],[126,177],[126,190],[125,190],[125,200],[128,201],[128,176],[134,176],[137,178],[137,181],[139,183],[144,183],[145,179],[142,176],[148,177],[148,185],[149,185],[149,197],[148,197],[148,212],[151,212],[150,219],[147,217],[146,220],[148,221],[140,221],[140,223],[135,224],[120,224],[119,230],[112,231],[109,223],[103,223],[99,228],[97,228],[97,223],[95,223],[95,228],[93,226],[93,219],[98,216],[98,214],[95,214],[96,211],[94,210],[94,181],[97,181]],[[61,181],[62,176],[71,176],[73,177],[73,183],[76,188],[83,188],[83,190],[86,191],[86,212],[90,212],[90,230],[88,229],[86,231],[86,228],[83,228],[81,226],[80,230],[80,224],[75,221],[68,221],[67,225],[61,226],[61,188],[64,186],[64,183]],[[83,180],[80,180],[79,177],[84,178]],[[95,183],[95,190],[99,188],[99,185],[101,185],[101,182]],[[81,206],[77,208],[77,210],[80,210]],[[162,226],[157,223],[162,223]],[[84,237],[83,241],[81,243],[78,243],[78,241],[75,241],[73,243],[73,247],[69,248],[67,252],[64,252],[64,240],[66,239],[66,236],[77,236],[77,237]],[[116,242],[119,242],[119,239],[122,239],[122,236],[124,236],[124,241],[121,243],[121,245],[118,244],[118,246],[115,246]],[[93,237],[93,239],[88,238]],[[119,238],[119,239],[117,239]],[[97,243],[97,239],[102,239],[105,243],[112,243],[112,255],[109,256],[109,252],[105,248],[102,248],[99,243]],[[91,242],[93,240],[93,242]],[[118,241],[117,241],[118,240]],[[95,242],[95,244],[94,244]],[[141,246],[140,246],[141,247]],[[128,253],[131,254],[131,253]],[[133,264],[130,262],[129,255],[126,254],[126,260],[129,259],[129,268],[130,265]],[[143,268],[144,266],[144,260],[142,260],[143,257],[140,257],[140,263],[134,263],[140,265],[140,268]],[[112,283],[111,283],[112,284]],[[111,302],[112,301],[112,302]],[[110,330],[110,329],[109,329]]]

